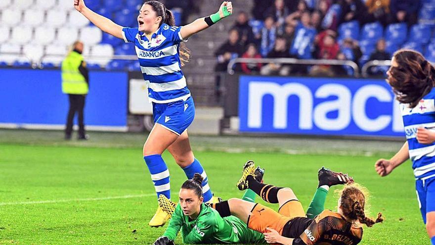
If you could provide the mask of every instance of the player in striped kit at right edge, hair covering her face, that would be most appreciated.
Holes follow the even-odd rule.
[[[387,75],[400,102],[406,142],[390,160],[379,159],[375,169],[386,176],[411,158],[420,211],[435,245],[435,68],[421,53],[402,49],[394,53]]]

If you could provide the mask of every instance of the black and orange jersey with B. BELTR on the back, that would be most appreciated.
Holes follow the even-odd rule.
[[[303,218],[299,219],[301,219],[299,222],[303,222]],[[291,220],[289,223],[292,221],[299,223],[295,222],[297,220]],[[292,226],[298,227],[297,224]],[[285,233],[291,232],[284,231],[283,235]],[[349,223],[337,212],[323,210],[312,220],[299,238],[295,239],[293,245],[356,245],[361,242],[361,239],[361,226]]]

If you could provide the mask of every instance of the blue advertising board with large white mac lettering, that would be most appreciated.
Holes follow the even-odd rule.
[[[241,132],[403,137],[382,79],[240,76]]]

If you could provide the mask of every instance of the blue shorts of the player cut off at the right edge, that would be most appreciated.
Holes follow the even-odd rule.
[[[435,211],[435,177],[427,180],[416,180],[418,204],[426,224],[426,213]]]

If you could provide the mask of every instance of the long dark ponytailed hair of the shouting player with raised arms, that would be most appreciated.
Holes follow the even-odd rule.
[[[174,14],[172,14],[171,10],[167,9],[166,6],[160,1],[156,1],[156,0],[145,1],[143,4],[150,5],[153,8],[154,12],[156,12],[156,15],[162,17],[159,27],[163,23],[168,24],[169,26],[175,25]],[[180,51],[181,66],[184,66],[184,63],[189,62],[190,50],[187,49],[186,45],[183,42],[181,42],[179,51]]]

